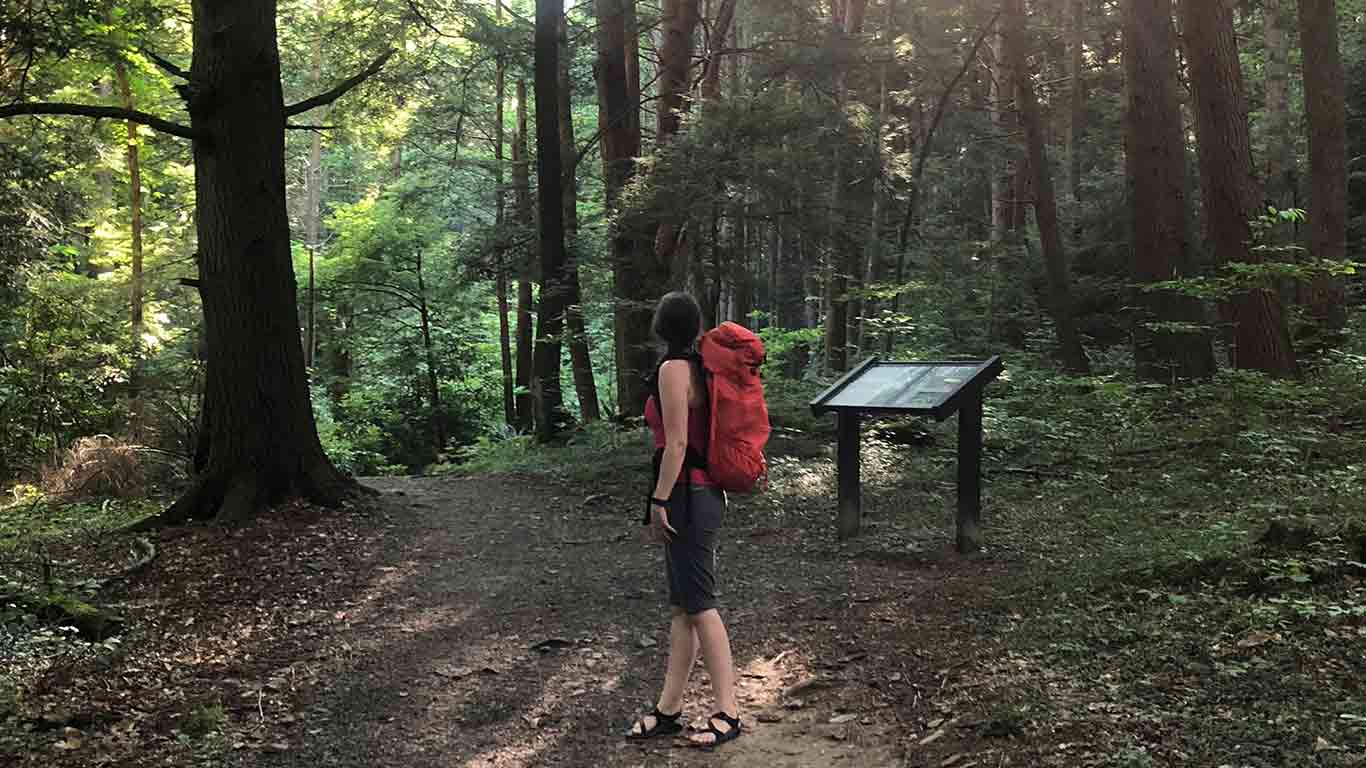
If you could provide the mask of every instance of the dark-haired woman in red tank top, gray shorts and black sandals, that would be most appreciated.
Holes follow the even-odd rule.
[[[645,407],[654,433],[658,478],[650,497],[652,538],[664,544],[669,584],[669,661],[654,709],[637,719],[627,738],[647,739],[683,730],[683,694],[693,661],[701,650],[712,675],[717,712],[706,730],[691,737],[695,746],[717,746],[740,735],[735,701],[731,638],[716,611],[716,538],[725,514],[725,495],[708,478],[697,456],[706,455],[709,409],[697,343],[702,310],[684,292],[660,299],[654,335],[667,346],[656,376],[656,394]],[[684,466],[687,465],[687,466]]]

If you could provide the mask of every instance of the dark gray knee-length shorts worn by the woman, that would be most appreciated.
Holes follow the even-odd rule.
[[[664,547],[669,605],[690,615],[716,608],[716,543],[725,517],[720,488],[679,485],[669,497],[669,525],[678,536]]]

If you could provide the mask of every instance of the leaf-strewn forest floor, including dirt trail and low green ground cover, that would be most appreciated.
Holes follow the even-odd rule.
[[[999,407],[971,558],[949,548],[951,422],[873,430],[865,530],[844,544],[828,439],[776,435],[773,489],[724,530],[747,732],[716,753],[622,738],[656,694],[667,607],[638,451],[615,445],[161,532],[157,560],[98,594],[127,622],[117,642],[15,664],[0,764],[1366,765],[1356,415],[1101,450],[1116,432],[1086,422],[1104,414],[1038,437]],[[699,668],[688,715],[708,700]]]

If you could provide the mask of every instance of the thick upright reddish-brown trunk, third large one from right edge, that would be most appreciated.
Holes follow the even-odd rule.
[[[1134,216],[1132,273],[1139,284],[1190,277],[1186,227],[1186,141],[1176,82],[1172,0],[1128,0],[1124,10],[1128,83],[1128,202]],[[1201,302],[1172,291],[1142,292],[1134,327],[1138,376],[1154,381],[1206,377],[1214,350]],[[1177,325],[1187,325],[1180,329]]]

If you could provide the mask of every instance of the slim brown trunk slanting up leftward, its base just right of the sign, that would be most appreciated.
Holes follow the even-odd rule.
[[[1067,254],[1063,251],[1063,234],[1057,225],[1057,198],[1053,194],[1053,172],[1048,164],[1044,126],[1038,115],[1038,100],[1034,96],[1034,82],[1026,64],[1029,49],[1024,37],[1024,0],[1005,0],[1007,40],[1009,68],[1015,75],[1016,101],[1020,123],[1024,127],[1024,142],[1029,153],[1029,167],[1034,182],[1034,216],[1038,221],[1040,245],[1044,249],[1044,268],[1048,273],[1048,294],[1052,305],[1053,325],[1057,333],[1059,357],[1063,365],[1074,373],[1090,372],[1082,338],[1076,332],[1076,317],[1072,309],[1071,277],[1067,269]]]

